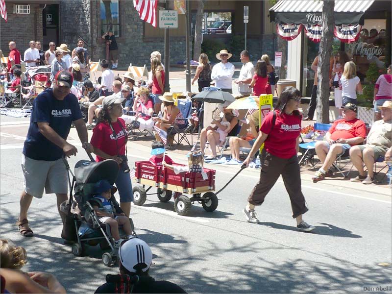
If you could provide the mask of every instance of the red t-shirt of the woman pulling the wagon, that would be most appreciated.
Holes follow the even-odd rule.
[[[280,111],[275,110],[275,125],[272,128],[273,111],[267,114],[261,123],[260,131],[268,134],[264,147],[267,152],[280,158],[291,158],[297,154],[295,150],[296,141],[301,132],[302,116],[279,115]]]

